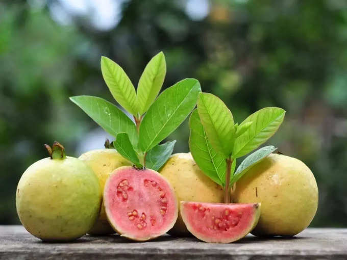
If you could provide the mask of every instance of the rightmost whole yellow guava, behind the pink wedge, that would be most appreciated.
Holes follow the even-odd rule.
[[[270,154],[236,183],[232,199],[262,203],[256,236],[294,236],[312,221],[318,188],[311,170],[300,160]]]

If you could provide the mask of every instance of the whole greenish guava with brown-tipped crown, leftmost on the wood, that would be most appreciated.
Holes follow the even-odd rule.
[[[21,176],[16,192],[20,222],[43,241],[82,237],[100,212],[102,193],[94,172],[82,161],[66,157],[58,142],[51,157],[32,164]]]

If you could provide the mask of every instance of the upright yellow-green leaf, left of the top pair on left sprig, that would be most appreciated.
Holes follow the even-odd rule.
[[[101,71],[114,99],[130,114],[137,115],[135,88],[126,72],[107,57],[101,57]]]

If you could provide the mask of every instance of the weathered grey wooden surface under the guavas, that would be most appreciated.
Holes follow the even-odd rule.
[[[347,259],[347,229],[308,228],[294,238],[252,235],[209,244],[168,235],[131,242],[118,235],[84,236],[73,243],[43,243],[22,226],[0,226],[0,259]]]

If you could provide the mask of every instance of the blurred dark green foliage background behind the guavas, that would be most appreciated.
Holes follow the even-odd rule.
[[[185,77],[241,122],[265,107],[285,122],[267,144],[304,161],[319,187],[311,226],[347,227],[347,1],[30,0],[0,3],[0,224],[15,224],[24,170],[58,140],[68,154],[108,135],[68,97],[109,93],[107,56],[136,86],[164,51],[164,87]],[[168,140],[188,151],[187,120]]]

